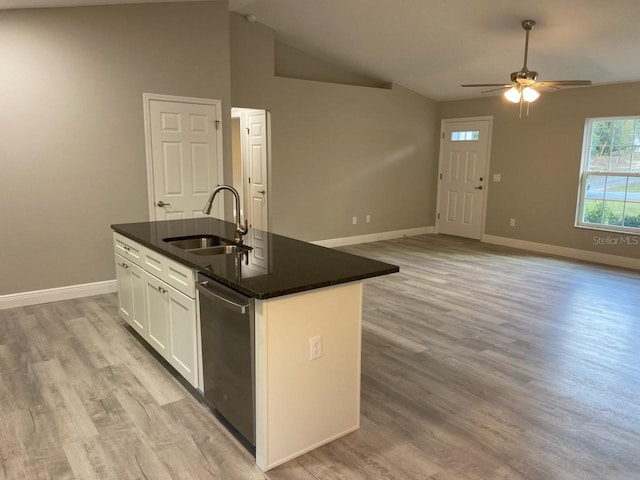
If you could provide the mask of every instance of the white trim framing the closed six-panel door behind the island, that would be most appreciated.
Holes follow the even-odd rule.
[[[216,118],[222,118],[222,101],[213,98],[197,98],[197,97],[181,97],[178,95],[164,95],[160,93],[143,93],[142,94],[142,110],[144,114],[144,145],[145,145],[145,158],[147,162],[147,206],[149,208],[149,220],[154,222],[156,220],[156,209],[154,205],[154,188],[153,188],[153,149],[151,145],[151,111],[150,103],[152,100],[162,102],[175,102],[175,103],[193,103],[198,105],[212,105],[216,109]],[[222,121],[220,121],[220,128],[216,129],[217,132],[217,156],[218,156],[218,178],[224,178],[224,159],[222,156]],[[220,199],[222,201],[222,198]],[[222,211],[224,212],[224,205],[222,205]]]

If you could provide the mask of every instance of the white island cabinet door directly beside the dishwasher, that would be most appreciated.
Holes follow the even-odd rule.
[[[197,386],[197,336],[195,300],[168,287],[169,363]]]

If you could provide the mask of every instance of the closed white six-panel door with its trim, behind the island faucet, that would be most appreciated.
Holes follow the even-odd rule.
[[[220,101],[145,94],[150,217],[174,220],[204,215],[222,179]],[[222,217],[222,201],[212,215]]]

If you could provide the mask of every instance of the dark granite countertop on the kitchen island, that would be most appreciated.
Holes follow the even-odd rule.
[[[266,299],[353,282],[399,271],[395,265],[261,232],[264,248],[248,255],[189,253],[163,239],[216,235],[233,239],[235,225],[212,217],[124,223],[111,228],[146,247],[195,268],[204,275],[253,298]],[[249,232],[251,233],[251,232]],[[246,235],[245,239],[249,239]]]

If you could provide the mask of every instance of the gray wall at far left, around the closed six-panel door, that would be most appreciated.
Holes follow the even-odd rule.
[[[114,278],[109,226],[148,219],[142,93],[228,115],[227,8],[0,11],[0,295]]]

